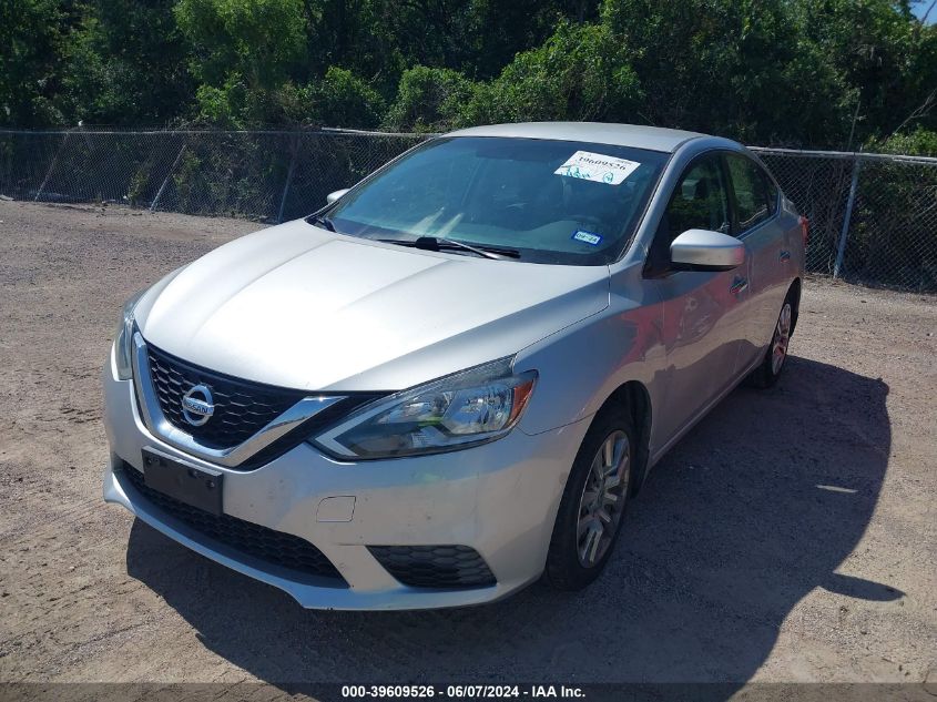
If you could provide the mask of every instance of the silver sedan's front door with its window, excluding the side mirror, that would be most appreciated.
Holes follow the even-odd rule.
[[[683,172],[648,253],[644,276],[663,304],[665,409],[655,415],[668,440],[735,378],[746,333],[747,262],[734,271],[673,271],[670,245],[688,230],[730,234],[732,208],[722,155],[697,156]]]

